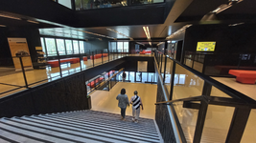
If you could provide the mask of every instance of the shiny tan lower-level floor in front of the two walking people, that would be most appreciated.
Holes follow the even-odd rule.
[[[156,87],[156,85],[151,84],[119,82],[109,92],[96,91],[91,94],[92,110],[120,113],[116,96],[121,92],[121,89],[125,88],[128,99],[134,95],[134,91],[137,91],[138,95],[141,96],[144,110],[140,112],[140,116],[154,119]],[[127,108],[127,115],[132,115],[131,105]]]

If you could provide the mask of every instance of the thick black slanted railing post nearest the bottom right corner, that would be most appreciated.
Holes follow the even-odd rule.
[[[249,107],[235,109],[225,143],[241,142],[250,111]]]

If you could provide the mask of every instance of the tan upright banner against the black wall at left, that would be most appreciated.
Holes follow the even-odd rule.
[[[12,60],[15,67],[15,71],[21,71],[21,65],[19,58],[22,57],[22,63],[25,70],[33,70],[33,65],[31,61],[30,51],[26,38],[8,38],[9,47],[12,52]]]

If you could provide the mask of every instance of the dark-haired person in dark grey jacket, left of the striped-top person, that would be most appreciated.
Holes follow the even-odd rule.
[[[116,99],[119,101],[118,107],[121,109],[122,120],[125,121],[126,120],[126,110],[127,110],[127,107],[129,106],[128,95],[126,94],[126,89],[122,89],[121,93],[116,96]]]

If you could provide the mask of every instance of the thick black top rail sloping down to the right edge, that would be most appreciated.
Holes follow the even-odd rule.
[[[202,74],[201,72],[198,72],[186,65],[181,64],[179,61],[173,59],[172,57],[169,57],[170,59],[174,60],[179,66],[181,66],[182,68],[188,70],[189,72],[192,72],[194,74],[196,74],[198,77],[200,77],[202,80],[208,82],[209,84],[213,85],[214,87],[216,87],[217,89],[221,90],[221,92],[225,92],[226,94],[228,94],[231,97],[235,97],[235,98],[239,98],[244,100],[245,102],[250,102],[251,104],[256,104],[256,101],[253,100],[252,98],[244,95],[244,93],[242,92],[238,92],[224,84],[222,84],[221,82],[208,77],[207,75]]]

